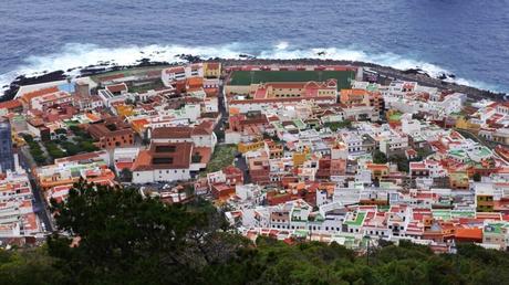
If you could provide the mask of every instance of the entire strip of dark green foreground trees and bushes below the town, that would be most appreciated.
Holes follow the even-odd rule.
[[[370,255],[337,244],[257,244],[210,203],[165,205],[137,191],[76,184],[53,203],[60,229],[37,250],[0,252],[0,284],[508,284],[509,254],[459,245],[457,255],[387,244]]]

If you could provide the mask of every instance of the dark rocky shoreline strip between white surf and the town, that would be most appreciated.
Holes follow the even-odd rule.
[[[180,60],[187,62],[202,62],[205,60],[200,59],[199,56],[194,55],[186,55],[183,54],[179,56]],[[368,62],[355,62],[355,61],[337,61],[337,60],[320,60],[320,59],[294,59],[294,60],[262,60],[262,59],[250,59],[245,57],[241,60],[231,60],[231,59],[209,59],[207,61],[212,62],[220,62],[224,66],[232,66],[232,65],[270,65],[270,64],[280,64],[280,65],[352,65],[352,66],[362,66],[368,67],[370,70],[378,73],[378,76],[382,78],[398,78],[404,81],[415,81],[422,85],[430,86],[430,87],[438,87],[443,89],[451,89],[454,92],[460,92],[467,94],[472,99],[482,99],[489,98],[494,101],[503,101],[506,94],[503,93],[496,93],[491,91],[485,91],[471,86],[460,85],[456,83],[445,82],[442,78],[434,78],[428,74],[420,72],[418,68],[413,70],[396,70],[388,66],[383,66],[380,64],[368,63]],[[136,67],[147,67],[147,66],[164,66],[164,65],[178,65],[178,62],[169,63],[169,62],[153,62],[148,59],[142,59],[138,61],[137,64],[134,65],[113,65],[107,66],[104,64],[98,65],[90,65],[86,67],[75,67],[80,68],[79,77],[83,76],[91,76],[91,75],[98,75],[105,74],[108,72],[114,71],[122,71],[128,68],[136,68]],[[75,70],[71,68],[69,71]],[[67,71],[67,72],[69,72]],[[454,75],[449,75],[454,77]],[[4,92],[4,95],[0,97],[0,102],[12,99],[20,88],[23,85],[30,84],[38,84],[38,83],[46,83],[52,81],[62,81],[65,80],[67,75],[64,71],[53,71],[45,73],[39,76],[27,77],[24,75],[18,76],[10,85],[9,88]]]

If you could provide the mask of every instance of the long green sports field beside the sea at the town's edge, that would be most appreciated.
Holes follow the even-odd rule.
[[[236,71],[231,74],[229,85],[249,85],[260,82],[323,82],[337,80],[337,89],[351,87],[355,78],[353,71]]]

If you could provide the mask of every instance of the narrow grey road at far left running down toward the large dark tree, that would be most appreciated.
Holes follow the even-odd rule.
[[[32,169],[34,169],[37,165],[33,161],[33,158],[28,151],[27,147],[21,147],[20,150],[21,150],[19,151],[20,166],[27,170],[27,175],[30,180],[30,186],[32,187],[32,193],[34,198],[33,210],[39,217],[39,219],[42,222],[44,222],[46,231],[52,232],[56,228],[54,226],[53,218],[50,213],[50,208],[45,199],[43,198],[41,188],[35,182],[35,177],[32,173]]]

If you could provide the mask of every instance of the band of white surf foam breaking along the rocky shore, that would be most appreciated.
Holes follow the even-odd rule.
[[[56,71],[74,67],[85,67],[87,65],[95,65],[97,63],[107,63],[110,65],[129,65],[135,64],[136,61],[142,59],[149,59],[152,61],[166,61],[177,62],[181,61],[177,57],[179,54],[193,54],[202,59],[222,57],[222,59],[240,59],[241,54],[246,54],[246,45],[232,43],[225,45],[210,45],[210,46],[186,46],[186,45],[128,45],[124,48],[106,49],[94,44],[66,44],[63,46],[62,52],[38,56],[32,55],[14,68],[12,72],[0,74],[0,87],[12,82],[18,75],[41,75],[45,71]],[[354,49],[292,49],[285,42],[279,42],[274,46],[252,53],[259,59],[330,59],[330,60],[347,60],[347,61],[362,61],[372,62],[381,65],[392,66],[399,70],[406,68],[422,68],[430,76],[438,76],[442,73],[450,73],[449,71],[427,62],[415,61],[405,59],[394,53],[370,54]],[[76,75],[76,71],[71,72],[70,75]],[[496,86],[489,86],[481,82],[467,81],[465,78],[456,78],[455,82],[459,84],[470,85],[475,87],[494,89]]]

